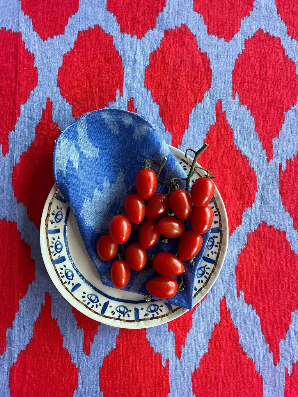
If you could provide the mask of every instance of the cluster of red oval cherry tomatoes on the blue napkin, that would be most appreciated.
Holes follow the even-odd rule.
[[[192,185],[190,193],[178,188],[174,183],[177,189],[171,193],[155,194],[158,180],[157,174],[150,168],[142,169],[137,173],[135,177],[137,193],[132,191],[124,199],[126,215],[119,213],[113,216],[108,224],[108,233],[99,237],[96,248],[101,260],[109,262],[116,256],[118,244],[123,244],[129,239],[132,224],[141,224],[138,231],[139,242],[128,245],[124,256],[118,254],[117,260],[112,262],[110,268],[112,284],[122,289],[130,280],[130,269],[145,268],[146,249],[152,248],[161,235],[166,237],[166,239],[163,237],[164,242],[168,238],[179,237],[176,255],[169,252],[150,255],[151,266],[161,276],[147,282],[147,291],[157,299],[169,299],[177,291],[182,290],[183,279],[178,285],[173,278],[184,272],[182,260],[189,260],[192,263],[201,249],[203,241],[201,234],[211,227],[213,211],[207,204],[213,197],[215,186],[208,177],[199,177]],[[188,218],[192,229],[186,231],[184,221]],[[149,294],[148,297],[151,299]]]

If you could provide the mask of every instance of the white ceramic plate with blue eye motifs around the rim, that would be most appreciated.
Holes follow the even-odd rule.
[[[169,146],[188,173],[191,158]],[[204,171],[195,170],[192,182]],[[223,266],[228,245],[228,220],[224,203],[215,187],[214,217],[203,258],[197,269],[194,306],[211,289]],[[121,328],[147,328],[174,320],[188,310],[165,302],[145,302],[142,295],[101,283],[91,261],[77,222],[56,185],[43,209],[40,229],[41,252],[46,270],[58,291],[77,310],[101,323]]]

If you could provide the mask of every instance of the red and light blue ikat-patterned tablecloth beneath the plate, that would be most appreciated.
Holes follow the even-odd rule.
[[[0,1],[0,395],[298,395],[298,2]],[[50,281],[39,224],[66,125],[137,111],[208,142],[221,274],[184,316],[99,324]]]

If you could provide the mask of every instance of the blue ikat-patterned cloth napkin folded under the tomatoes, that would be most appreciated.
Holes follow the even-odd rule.
[[[112,287],[109,275],[111,262],[102,262],[97,256],[97,238],[106,230],[110,218],[123,206],[127,190],[132,189],[144,158],[151,158],[160,164],[165,156],[167,161],[160,179],[169,183],[174,176],[185,177],[185,172],[157,131],[157,126],[143,116],[123,110],[101,109],[84,114],[66,127],[56,141],[54,178],[74,213],[87,252],[104,285]],[[151,168],[157,171],[157,166]],[[180,187],[185,187],[184,181]],[[166,188],[158,183],[157,192],[166,193]],[[132,226],[137,231],[136,225]],[[186,222],[186,229],[189,226]],[[168,303],[192,308],[197,266],[209,234],[210,230],[202,236],[203,245],[195,258],[194,268],[184,262],[184,291],[177,293]],[[130,239],[133,237],[132,233]],[[167,244],[159,242],[147,250],[147,254],[149,256],[160,251],[175,253],[178,241],[169,239]],[[132,270],[124,290],[143,295],[147,292],[146,282],[156,276],[158,274],[153,270],[148,274]]]

